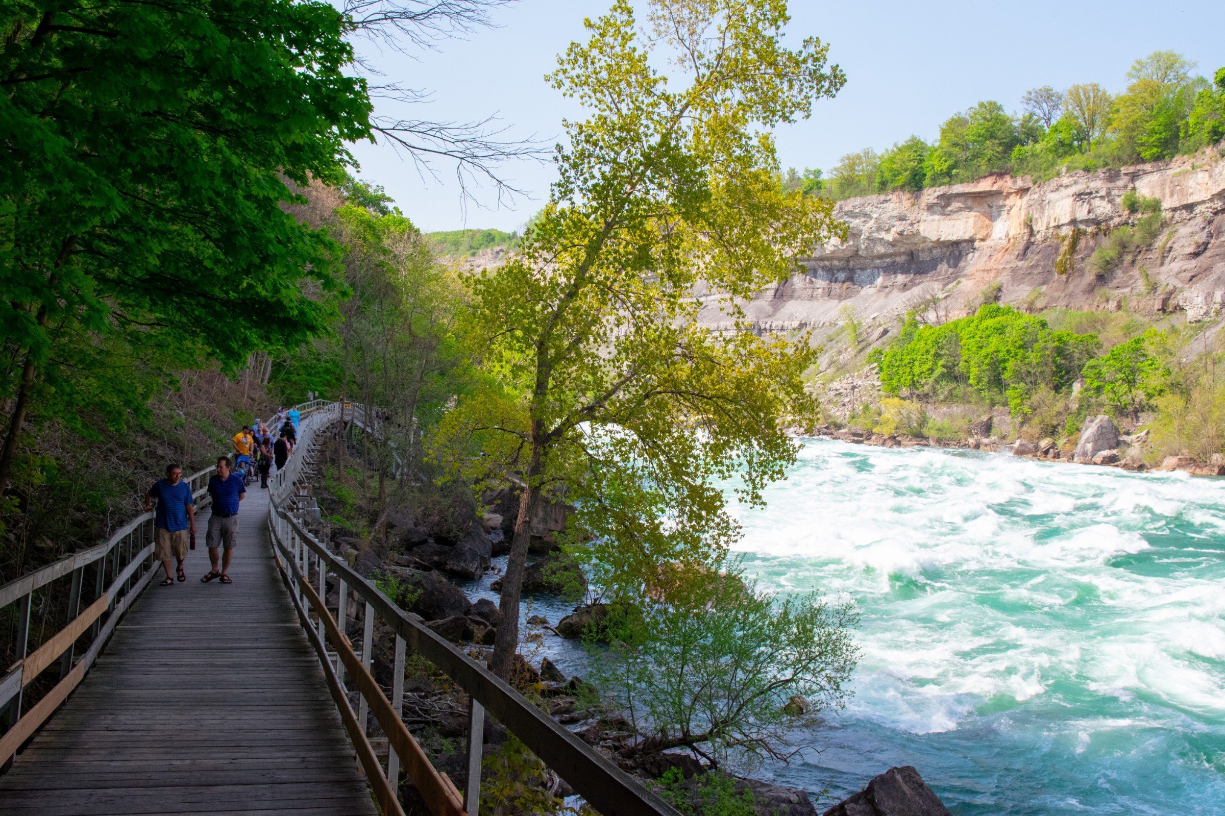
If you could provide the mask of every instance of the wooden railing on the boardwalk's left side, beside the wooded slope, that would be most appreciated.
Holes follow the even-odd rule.
[[[205,486],[212,473],[213,468],[206,468],[187,479],[197,511],[208,506]],[[152,512],[141,513],[102,544],[78,550],[0,587],[0,610],[17,604],[17,662],[0,678],[0,712],[7,714],[9,727],[0,736],[0,766],[12,758],[76,689],[115,631],[124,611],[148,586],[156,572],[156,565],[149,561],[153,555],[153,516]],[[87,571],[93,575],[87,577]],[[29,621],[34,595],[62,589],[55,586],[61,580],[71,581],[69,622],[31,652]],[[89,583],[93,584],[92,591]],[[82,611],[81,603],[87,597],[92,600]],[[74,664],[76,644],[87,636],[89,644]],[[56,662],[60,665],[59,682],[28,711],[22,711],[26,687]]]

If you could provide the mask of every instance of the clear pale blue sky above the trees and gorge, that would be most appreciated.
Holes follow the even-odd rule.
[[[429,89],[431,102],[407,115],[470,121],[496,114],[510,134],[561,135],[561,119],[582,111],[543,77],[556,54],[582,38],[584,16],[608,0],[521,0],[495,13],[497,28],[447,40],[410,59],[364,48],[388,80]],[[784,167],[831,168],[864,147],[877,149],[911,134],[933,138],[940,123],[980,99],[1018,110],[1027,88],[1100,82],[1121,91],[1128,66],[1154,50],[1176,50],[1205,76],[1225,65],[1225,2],[1095,1],[820,2],[791,0],[790,36],[816,34],[846,72],[846,86],[813,116],[777,134]],[[405,115],[405,114],[401,114]],[[512,207],[481,195],[485,208],[461,203],[453,167],[423,175],[390,147],[363,143],[361,178],[382,184],[423,230],[516,229],[548,195],[552,168],[521,163],[503,173],[534,198]]]

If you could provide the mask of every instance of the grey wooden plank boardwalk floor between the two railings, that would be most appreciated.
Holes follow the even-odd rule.
[[[247,488],[232,584],[151,584],[72,697],[0,776],[0,816],[369,816],[318,660]],[[158,567],[160,570],[160,567]]]

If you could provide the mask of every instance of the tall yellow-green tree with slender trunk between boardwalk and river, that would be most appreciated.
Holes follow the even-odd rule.
[[[782,0],[657,0],[644,33],[619,0],[550,75],[590,113],[567,123],[518,254],[473,281],[486,380],[439,447],[524,485],[491,660],[502,676],[541,497],[578,507],[578,549],[609,594],[644,594],[662,562],[726,548],[718,479],[739,475],[760,501],[795,457],[786,418],[815,417],[807,338],[757,337],[735,305],[844,234],[828,200],[779,189],[769,129],[844,82],[816,38],[782,45],[788,20]],[[665,74],[653,60],[668,56]],[[698,285],[734,331],[696,322]]]

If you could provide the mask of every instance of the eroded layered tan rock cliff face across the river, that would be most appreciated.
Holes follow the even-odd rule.
[[[1134,189],[1165,218],[1152,245],[1106,274],[1088,263],[1111,230],[1134,223]],[[850,305],[873,337],[908,310],[959,317],[984,299],[1051,306],[1215,316],[1225,299],[1225,158],[1218,151],[1033,184],[990,176],[973,184],[850,198],[835,213],[849,235],[804,259],[807,270],[746,305],[763,331],[832,326]],[[1061,259],[1062,256],[1062,259]],[[715,308],[702,321],[725,322]]]

